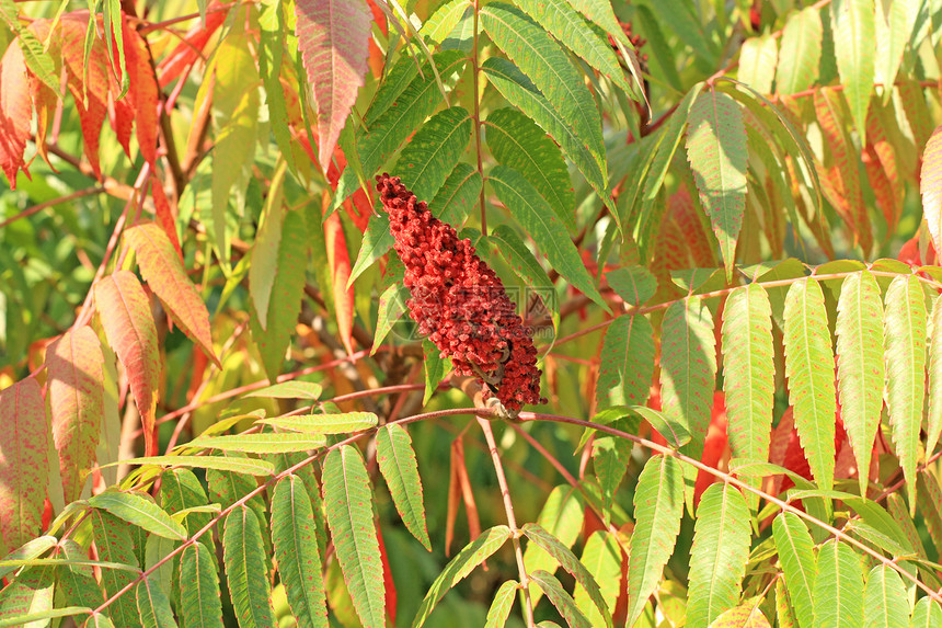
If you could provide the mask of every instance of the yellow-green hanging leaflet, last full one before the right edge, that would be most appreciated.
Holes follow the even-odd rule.
[[[911,491],[909,514],[916,513],[916,461],[926,397],[926,297],[915,275],[899,275],[886,290],[886,409],[893,445]]]

